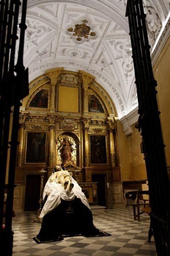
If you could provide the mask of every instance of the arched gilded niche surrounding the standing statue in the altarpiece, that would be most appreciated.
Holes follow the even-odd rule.
[[[71,149],[71,156],[65,159],[65,142]],[[70,161],[76,166],[79,166],[79,139],[76,134],[72,132],[64,132],[57,137],[57,164],[66,164]]]

